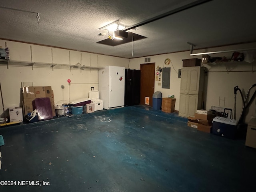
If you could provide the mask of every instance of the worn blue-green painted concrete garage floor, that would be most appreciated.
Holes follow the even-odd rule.
[[[186,122],[130,106],[1,128],[0,191],[255,191],[256,149]]]

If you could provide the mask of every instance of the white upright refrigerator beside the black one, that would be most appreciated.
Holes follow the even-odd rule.
[[[104,109],[124,107],[125,68],[106,66],[99,70],[99,98]]]

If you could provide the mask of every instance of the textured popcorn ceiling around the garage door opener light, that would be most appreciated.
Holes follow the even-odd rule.
[[[98,28],[120,19],[132,26],[196,0],[1,0],[0,38],[131,58],[132,43],[96,44]],[[146,36],[134,42],[133,57],[143,57],[256,41],[256,1],[212,0],[139,26],[133,33]]]

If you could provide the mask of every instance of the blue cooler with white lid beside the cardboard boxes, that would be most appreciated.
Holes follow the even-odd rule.
[[[230,139],[235,139],[238,121],[226,117],[215,117],[212,120],[212,133]]]

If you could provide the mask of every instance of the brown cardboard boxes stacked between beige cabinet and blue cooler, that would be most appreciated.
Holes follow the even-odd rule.
[[[212,111],[196,110],[195,117],[188,117],[188,126],[199,131],[211,133],[212,120],[215,117]]]

